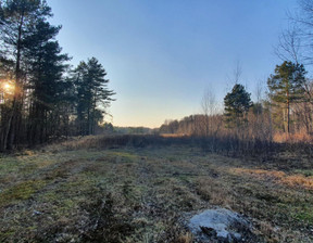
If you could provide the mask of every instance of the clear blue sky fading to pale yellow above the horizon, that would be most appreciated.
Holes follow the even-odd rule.
[[[115,126],[159,127],[218,102],[239,61],[249,92],[281,61],[273,47],[297,0],[48,0],[72,64],[97,57],[117,92]]]

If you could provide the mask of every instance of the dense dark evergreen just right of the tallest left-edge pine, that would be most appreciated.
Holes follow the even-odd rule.
[[[28,47],[25,56],[29,66],[28,90],[32,91],[27,132],[32,144],[47,141],[53,133],[53,124],[58,125],[54,113],[66,88],[62,76],[66,68],[64,62],[68,60],[66,54],[61,54],[58,41],[53,40],[59,30],[60,27],[39,21],[34,34],[24,40]]]

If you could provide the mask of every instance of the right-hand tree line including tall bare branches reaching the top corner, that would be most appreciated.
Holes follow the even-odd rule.
[[[202,98],[202,114],[181,120],[165,122],[161,133],[192,135],[213,139],[249,141],[281,141],[291,138],[311,139],[313,135],[313,80],[305,66],[312,65],[313,1],[299,0],[299,11],[288,13],[289,27],[284,29],[275,48],[281,60],[267,78],[266,95],[251,101],[239,84],[240,68],[235,72],[235,85],[224,98],[224,111],[216,112],[212,90]],[[212,140],[212,141],[213,141]]]

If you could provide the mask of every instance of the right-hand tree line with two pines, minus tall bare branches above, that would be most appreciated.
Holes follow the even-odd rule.
[[[224,112],[216,112],[213,92],[202,99],[202,114],[166,120],[161,133],[202,137],[233,136],[272,141],[277,133],[313,135],[313,81],[302,64],[285,61],[267,79],[267,98],[252,102],[245,86],[235,84],[224,98]]]

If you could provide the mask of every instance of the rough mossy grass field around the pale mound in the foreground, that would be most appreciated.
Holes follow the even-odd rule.
[[[195,214],[245,215],[260,242],[313,242],[313,163],[196,146],[72,149],[0,157],[0,242],[192,242]]]

